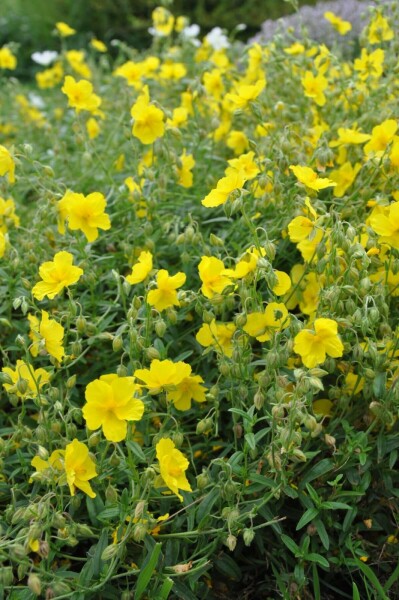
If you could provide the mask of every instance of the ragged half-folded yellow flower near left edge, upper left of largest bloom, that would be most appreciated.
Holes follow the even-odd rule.
[[[39,319],[34,315],[28,315],[30,324],[29,337],[32,340],[30,353],[32,356],[37,356],[40,349],[43,347],[50,356],[53,356],[58,362],[61,362],[65,356],[65,351],[62,346],[64,339],[64,328],[54,319],[49,318],[47,311],[42,310],[42,318]]]

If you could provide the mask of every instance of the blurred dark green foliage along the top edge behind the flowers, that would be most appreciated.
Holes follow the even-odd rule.
[[[298,6],[315,4],[316,0],[299,0]],[[53,35],[54,23],[65,21],[79,32],[75,40],[84,45],[95,35],[105,42],[119,39],[137,48],[151,43],[148,28],[157,0],[2,0],[0,46],[10,41],[20,44],[19,76],[29,76],[33,66],[30,56],[37,50],[58,50]],[[283,0],[196,0],[164,2],[173,5],[174,14],[184,14],[201,27],[205,35],[212,27],[229,31],[245,23],[241,37],[255,35],[266,19],[277,19],[295,12],[296,2]],[[79,39],[80,38],[80,39]],[[78,45],[78,44],[77,44]]]

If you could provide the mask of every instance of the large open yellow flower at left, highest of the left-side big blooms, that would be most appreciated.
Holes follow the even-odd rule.
[[[88,242],[98,238],[98,229],[110,229],[111,221],[104,212],[106,200],[100,192],[92,192],[88,196],[68,190],[58,202],[60,212],[59,231],[64,232],[63,221],[68,219],[68,227],[72,231],[81,230]]]

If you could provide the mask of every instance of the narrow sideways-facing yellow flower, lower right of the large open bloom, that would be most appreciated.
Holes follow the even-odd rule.
[[[189,467],[187,458],[176,448],[174,442],[167,438],[162,438],[157,443],[156,453],[162,478],[162,481],[156,483],[156,487],[165,485],[183,502],[179,490],[192,491],[185,474]]]

